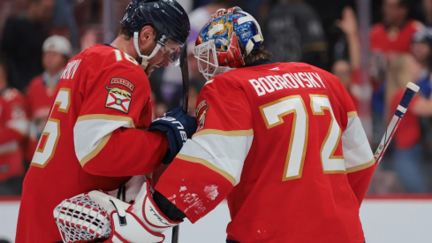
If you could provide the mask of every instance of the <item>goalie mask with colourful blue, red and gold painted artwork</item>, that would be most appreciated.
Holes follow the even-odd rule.
[[[264,41],[258,22],[239,7],[220,9],[202,27],[193,54],[208,80],[245,65],[244,57]]]

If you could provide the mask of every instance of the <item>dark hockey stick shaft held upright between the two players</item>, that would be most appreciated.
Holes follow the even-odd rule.
[[[181,50],[180,69],[181,69],[181,79],[183,81],[182,109],[187,114],[187,104],[189,102],[189,66],[187,65],[187,45]],[[178,232],[179,232],[179,227],[178,225],[176,225],[172,228],[171,243],[178,243]]]

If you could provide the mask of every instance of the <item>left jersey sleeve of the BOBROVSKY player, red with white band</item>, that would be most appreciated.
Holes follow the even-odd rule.
[[[254,138],[246,95],[229,81],[214,80],[203,87],[196,107],[197,133],[155,186],[192,223],[239,184]]]

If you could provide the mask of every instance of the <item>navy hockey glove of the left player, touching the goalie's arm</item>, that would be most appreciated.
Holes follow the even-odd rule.
[[[162,117],[155,119],[150,124],[148,131],[161,131],[168,136],[170,148],[162,163],[171,163],[186,140],[192,138],[196,126],[196,118],[187,115],[181,110],[181,107],[168,110]]]

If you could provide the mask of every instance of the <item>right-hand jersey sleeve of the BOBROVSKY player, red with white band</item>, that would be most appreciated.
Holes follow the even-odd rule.
[[[338,81],[338,80],[337,80]],[[342,85],[341,85],[342,87]],[[354,103],[345,88],[339,94],[343,104],[342,119],[345,130],[342,132],[342,150],[345,159],[347,178],[359,204],[363,201],[370,180],[375,171],[375,159],[368,138],[361,125]]]

